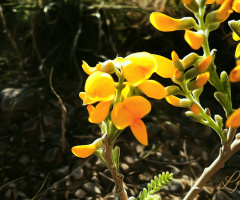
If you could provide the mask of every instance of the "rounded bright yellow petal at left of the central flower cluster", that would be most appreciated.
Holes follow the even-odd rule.
[[[108,73],[94,72],[86,80],[85,92],[95,102],[113,100],[116,93],[114,80]]]

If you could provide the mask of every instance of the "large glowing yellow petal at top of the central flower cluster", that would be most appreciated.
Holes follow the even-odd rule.
[[[156,68],[155,58],[147,52],[133,53],[127,56],[122,64],[123,75],[133,86],[149,79]]]

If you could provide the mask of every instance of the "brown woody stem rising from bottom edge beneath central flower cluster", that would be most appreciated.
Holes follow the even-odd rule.
[[[113,149],[114,144],[111,144],[111,145],[109,144],[107,134],[103,138],[102,142],[103,142],[103,145],[105,146],[105,151],[103,152],[103,156],[109,166],[108,168],[109,168],[111,175],[113,177],[113,180],[115,182],[118,195],[121,200],[127,200],[128,196],[124,189],[124,184],[123,184],[124,176],[117,172],[117,169],[116,169],[115,165],[113,164],[113,160],[112,160],[112,149]]]

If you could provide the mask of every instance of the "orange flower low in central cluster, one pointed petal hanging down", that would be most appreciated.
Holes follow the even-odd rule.
[[[130,126],[135,138],[143,145],[148,144],[147,129],[141,120],[151,110],[151,104],[141,96],[132,96],[117,103],[111,113],[113,124],[122,130]]]

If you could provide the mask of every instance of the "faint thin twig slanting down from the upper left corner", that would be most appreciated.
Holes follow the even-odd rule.
[[[15,40],[13,39],[10,31],[7,28],[6,20],[5,20],[5,17],[3,15],[3,11],[2,11],[2,6],[0,6],[0,19],[2,21],[3,30],[4,30],[8,40],[10,41],[12,47],[14,48],[14,50],[17,53],[17,56],[18,56],[18,59],[19,59],[19,62],[20,62],[19,69],[22,69],[22,67],[24,65],[24,61],[23,61],[22,55],[21,55],[21,53],[20,53],[20,51],[18,49],[18,46],[17,46]]]

